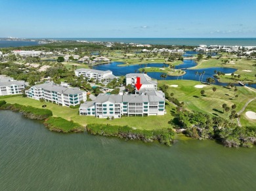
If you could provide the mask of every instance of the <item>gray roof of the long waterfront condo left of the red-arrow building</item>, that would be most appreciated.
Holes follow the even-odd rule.
[[[79,94],[82,92],[85,92],[83,90],[80,90],[79,88],[65,88],[62,86],[57,86],[54,84],[38,84],[34,86],[35,88],[42,88],[43,90],[48,90],[48,91],[54,91],[54,92],[58,92],[60,94]]]

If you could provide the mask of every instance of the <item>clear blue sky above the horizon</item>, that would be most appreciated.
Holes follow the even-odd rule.
[[[0,0],[0,37],[256,37],[256,0]]]

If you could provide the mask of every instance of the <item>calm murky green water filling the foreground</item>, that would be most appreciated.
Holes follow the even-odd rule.
[[[255,190],[256,148],[62,134],[0,111],[0,190]]]

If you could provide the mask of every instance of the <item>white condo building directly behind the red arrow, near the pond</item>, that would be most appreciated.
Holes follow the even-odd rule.
[[[158,82],[157,80],[152,80],[148,75],[142,74],[142,73],[131,73],[125,75],[126,77],[126,86],[128,84],[131,84],[133,87],[135,87],[135,84],[137,83],[137,77],[140,77],[140,84],[142,86],[140,89],[152,89],[157,90],[158,89]]]

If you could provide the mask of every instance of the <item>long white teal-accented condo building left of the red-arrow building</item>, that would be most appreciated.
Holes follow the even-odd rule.
[[[65,88],[55,84],[38,84],[26,90],[26,95],[32,99],[45,99],[62,106],[79,105],[81,101],[86,101],[86,92],[79,88]]]

